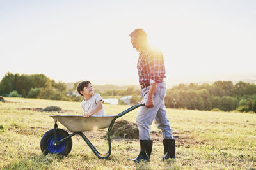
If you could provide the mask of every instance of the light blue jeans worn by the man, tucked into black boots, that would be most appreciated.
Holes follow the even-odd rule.
[[[142,103],[146,103],[150,86],[141,89]],[[154,108],[141,107],[136,117],[139,129],[140,140],[150,140],[150,125],[154,120],[158,129],[161,129],[163,139],[172,139],[172,129],[166,115],[164,97],[166,95],[166,83],[157,84],[156,92],[153,97]]]

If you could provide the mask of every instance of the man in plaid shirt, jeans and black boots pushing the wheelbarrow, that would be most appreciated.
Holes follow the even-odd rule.
[[[149,161],[153,145],[150,139],[150,125],[153,120],[163,135],[164,157],[162,159],[175,159],[175,140],[164,104],[166,83],[163,54],[148,45],[147,34],[143,29],[135,29],[129,36],[131,36],[133,48],[140,53],[137,69],[142,103],[145,103],[145,107],[140,108],[136,117],[140,136],[140,153],[136,159],[131,160]]]

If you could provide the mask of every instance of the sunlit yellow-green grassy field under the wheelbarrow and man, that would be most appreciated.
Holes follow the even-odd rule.
[[[161,161],[161,132],[153,124],[151,161],[134,164],[127,158],[138,155],[138,139],[113,139],[112,154],[106,160],[98,159],[80,136],[72,137],[73,148],[67,157],[44,156],[40,139],[54,128],[54,120],[49,117],[52,113],[36,108],[59,106],[64,110],[59,114],[81,115],[80,103],[5,99],[7,103],[0,103],[0,169],[256,169],[256,114],[168,109],[177,159]],[[113,115],[129,106],[104,107]],[[137,112],[131,111],[120,120],[135,122]],[[84,132],[100,152],[108,149],[105,133]]]

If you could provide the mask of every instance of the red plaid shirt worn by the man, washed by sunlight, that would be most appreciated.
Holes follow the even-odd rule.
[[[139,83],[160,83],[165,78],[163,54],[159,50],[147,48],[140,52],[137,64]]]

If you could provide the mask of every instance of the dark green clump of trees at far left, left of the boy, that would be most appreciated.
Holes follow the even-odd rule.
[[[78,101],[81,97],[67,94],[66,84],[55,82],[44,74],[6,73],[0,82],[0,95],[9,97],[39,98]],[[82,100],[82,99],[81,99]]]

